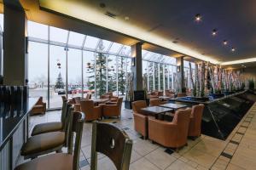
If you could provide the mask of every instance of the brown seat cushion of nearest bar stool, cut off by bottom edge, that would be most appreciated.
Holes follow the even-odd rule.
[[[72,170],[73,155],[69,154],[51,154],[38,157],[32,161],[20,164],[15,170]]]

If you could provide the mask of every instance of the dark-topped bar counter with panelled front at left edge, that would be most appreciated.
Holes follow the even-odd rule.
[[[0,170],[15,167],[20,148],[28,137],[28,115],[38,98],[19,105],[0,103]]]

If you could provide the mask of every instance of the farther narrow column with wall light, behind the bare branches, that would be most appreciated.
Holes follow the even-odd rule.
[[[185,84],[184,84],[184,65],[183,65],[183,56],[176,59],[177,65],[177,81],[178,81],[178,93],[186,93]]]

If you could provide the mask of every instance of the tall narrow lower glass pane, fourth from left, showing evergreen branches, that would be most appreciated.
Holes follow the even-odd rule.
[[[92,94],[92,98],[94,98],[95,92],[94,56],[93,52],[84,51],[84,93]]]

